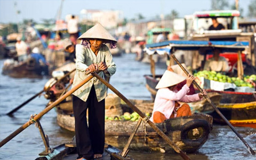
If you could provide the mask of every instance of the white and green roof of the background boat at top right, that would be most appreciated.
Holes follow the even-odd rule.
[[[198,11],[194,13],[197,18],[211,17],[239,17],[240,12],[237,10],[222,10],[222,11]]]

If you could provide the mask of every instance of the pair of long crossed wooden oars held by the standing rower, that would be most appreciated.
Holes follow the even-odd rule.
[[[86,74],[89,74],[90,71],[86,72]],[[112,85],[110,85],[105,79],[101,78],[97,73],[91,73],[84,81],[73,87],[71,90],[69,90],[67,93],[63,94],[59,99],[54,101],[51,105],[46,107],[41,113],[37,114],[33,121],[28,121],[25,124],[23,124],[19,129],[11,133],[8,137],[6,137],[4,140],[0,142],[0,148],[5,145],[8,141],[10,141],[12,138],[14,138],[16,135],[18,135],[20,132],[25,130],[29,125],[33,124],[37,119],[41,118],[44,114],[46,114],[48,111],[50,111],[53,107],[58,105],[62,100],[66,99],[69,95],[71,95],[73,92],[75,92],[79,87],[84,85],[85,83],[89,82],[90,79],[93,77],[97,77],[103,84],[105,84],[107,87],[109,87],[110,90],[112,90],[114,93],[116,93],[122,100],[124,100],[127,105],[129,105],[134,111],[136,111],[141,118],[146,118],[145,114],[143,114],[137,107],[135,107],[127,98],[124,97],[123,94],[121,94],[119,91],[117,91]],[[183,158],[183,159],[190,159],[186,153],[184,153],[177,145],[175,145],[174,142],[172,142],[167,135],[163,133],[153,122],[147,120],[146,121],[153,129]]]

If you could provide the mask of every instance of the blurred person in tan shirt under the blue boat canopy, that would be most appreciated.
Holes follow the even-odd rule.
[[[201,52],[201,51],[199,51]],[[213,57],[205,62],[204,70],[214,70],[228,72],[229,66],[228,61],[225,57],[220,56],[220,50],[217,48],[213,49]]]

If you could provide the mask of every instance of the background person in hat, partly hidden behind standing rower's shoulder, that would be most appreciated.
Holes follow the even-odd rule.
[[[66,52],[69,53],[68,58],[66,60],[70,60],[75,62],[76,59],[76,45],[73,44],[73,42],[70,41],[69,38],[65,38],[63,40],[63,48]]]

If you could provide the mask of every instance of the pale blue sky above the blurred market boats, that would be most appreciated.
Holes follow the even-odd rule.
[[[247,15],[248,5],[252,0],[240,0],[239,7],[243,8],[243,15]],[[17,3],[14,6],[14,3]],[[234,4],[235,0],[228,0]],[[57,19],[61,0],[0,0],[0,23],[21,22],[23,19]],[[139,13],[146,18],[156,15],[170,14],[172,10],[179,13],[179,17],[193,14],[195,11],[210,10],[211,0],[64,0],[61,19],[67,14],[79,15],[85,10],[120,10],[124,18],[135,18]],[[16,14],[17,10],[20,14]]]

